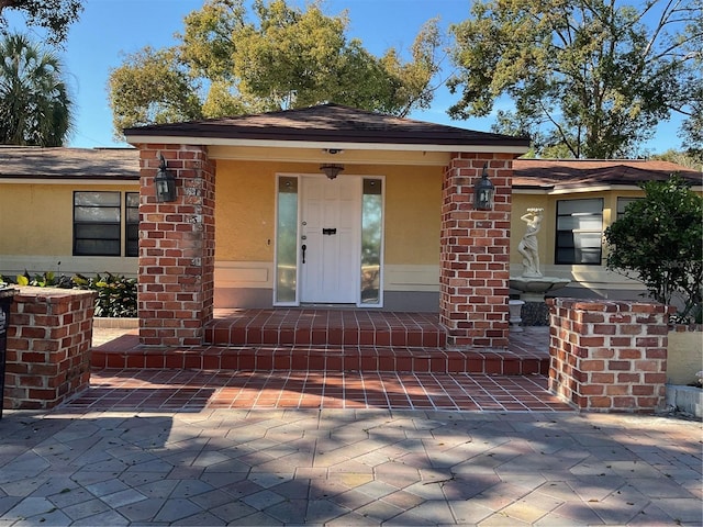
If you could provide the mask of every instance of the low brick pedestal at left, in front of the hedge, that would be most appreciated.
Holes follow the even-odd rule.
[[[88,388],[96,293],[20,288],[10,311],[5,408],[51,408]]]

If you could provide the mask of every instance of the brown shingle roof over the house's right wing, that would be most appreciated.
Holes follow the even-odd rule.
[[[514,159],[513,187],[570,189],[595,184],[636,187],[666,180],[678,172],[691,184],[703,184],[703,173],[674,162],[647,159]]]

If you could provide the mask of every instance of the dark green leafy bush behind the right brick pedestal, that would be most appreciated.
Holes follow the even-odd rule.
[[[645,199],[605,229],[607,268],[634,272],[665,304],[680,295],[680,317],[701,316],[703,294],[703,198],[679,176],[641,186]]]

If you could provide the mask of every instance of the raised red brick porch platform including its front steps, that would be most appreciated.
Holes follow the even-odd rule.
[[[546,327],[506,349],[444,349],[436,314],[339,310],[217,311],[203,346],[141,346],[137,332],[93,348],[93,368],[547,374]]]

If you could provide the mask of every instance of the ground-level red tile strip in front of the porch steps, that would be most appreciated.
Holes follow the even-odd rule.
[[[569,412],[544,375],[393,372],[93,370],[63,405],[77,412],[384,408]]]

